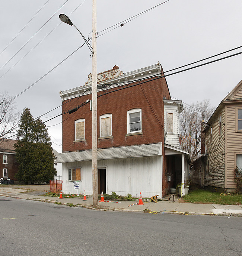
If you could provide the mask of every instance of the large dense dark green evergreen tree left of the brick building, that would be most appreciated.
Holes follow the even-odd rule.
[[[15,177],[31,184],[34,181],[48,182],[54,178],[54,155],[45,124],[34,120],[28,108],[23,110],[15,144],[19,171]]]

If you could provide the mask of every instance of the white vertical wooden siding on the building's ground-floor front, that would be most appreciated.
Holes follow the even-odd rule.
[[[139,157],[99,160],[99,167],[106,167],[106,193],[112,191],[118,195],[131,194],[133,197],[151,197],[159,194],[162,197],[161,184],[161,158]],[[80,182],[80,192],[86,190],[87,195],[92,194],[92,162],[72,162],[63,163],[63,193],[75,194],[73,182],[67,181],[68,167],[82,167],[82,182]]]

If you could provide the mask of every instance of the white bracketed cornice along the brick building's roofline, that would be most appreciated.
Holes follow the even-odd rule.
[[[111,86],[109,86],[109,89],[110,89],[110,88],[120,86],[120,85],[118,85],[120,83],[123,83],[123,85],[125,85],[125,84],[130,83],[130,81],[147,78],[152,75],[161,76],[161,71],[162,71],[162,67],[161,67],[160,63],[158,62],[155,65],[141,68],[141,69],[134,70],[134,71],[130,71],[128,73],[121,74],[118,77],[114,77],[114,78],[111,78],[111,79],[108,79],[105,81],[101,81],[98,84],[111,84]],[[98,89],[98,92],[102,91],[102,90],[104,90],[104,89]],[[92,84],[89,83],[89,84],[79,86],[79,87],[76,87],[73,89],[69,89],[69,90],[66,90],[63,92],[60,91],[60,97],[61,97],[61,100],[64,101],[67,99],[71,99],[71,98],[75,98],[75,97],[78,97],[81,95],[87,95],[87,94],[91,94],[91,93],[92,93]]]

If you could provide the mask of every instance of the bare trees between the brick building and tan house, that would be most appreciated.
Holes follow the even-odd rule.
[[[189,152],[191,161],[201,154],[201,121],[205,122],[213,114],[209,99],[192,103],[180,115],[181,148]]]

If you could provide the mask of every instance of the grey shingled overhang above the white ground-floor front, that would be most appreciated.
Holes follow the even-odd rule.
[[[98,149],[98,160],[133,157],[151,157],[157,155],[162,155],[162,143]],[[56,163],[68,163],[91,160],[92,150],[88,149],[80,151],[62,152],[58,155]]]

